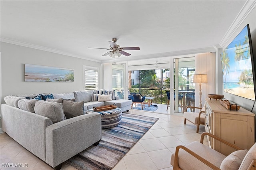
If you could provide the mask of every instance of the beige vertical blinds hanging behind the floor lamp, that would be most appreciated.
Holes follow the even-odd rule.
[[[196,54],[195,73],[207,74],[208,83],[202,84],[202,107],[204,107],[204,100],[208,94],[216,93],[216,53],[199,53]],[[199,103],[199,84],[195,84],[195,106]]]

